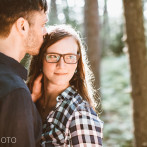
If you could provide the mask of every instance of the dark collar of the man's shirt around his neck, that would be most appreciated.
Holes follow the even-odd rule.
[[[23,80],[27,80],[27,70],[15,59],[0,52],[0,63],[6,65]]]

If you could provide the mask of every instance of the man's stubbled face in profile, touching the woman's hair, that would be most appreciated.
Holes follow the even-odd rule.
[[[21,30],[23,37],[23,46],[27,53],[31,55],[36,55],[39,53],[40,47],[43,43],[43,37],[47,33],[45,24],[47,22],[47,15],[41,12],[34,12],[32,14],[32,24],[28,27],[28,25],[24,24],[25,31]],[[23,22],[21,23],[23,24]],[[19,26],[19,25],[18,25]],[[27,31],[28,30],[28,31]]]

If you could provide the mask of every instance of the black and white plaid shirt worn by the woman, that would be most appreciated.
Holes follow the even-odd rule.
[[[103,122],[76,90],[68,87],[43,125],[42,147],[102,147]]]

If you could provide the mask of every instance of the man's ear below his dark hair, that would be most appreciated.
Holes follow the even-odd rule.
[[[23,17],[20,17],[19,19],[17,19],[16,21],[16,28],[17,31],[21,34],[21,35],[27,35],[28,30],[29,30],[29,23],[26,19],[24,19]]]

